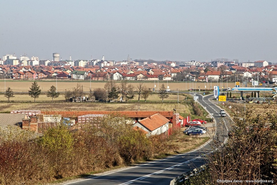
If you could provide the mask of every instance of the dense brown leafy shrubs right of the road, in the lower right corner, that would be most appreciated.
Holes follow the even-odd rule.
[[[190,177],[184,184],[219,184],[217,180],[241,181],[230,184],[276,184],[276,108],[263,105],[262,109],[256,110],[248,106],[244,112],[244,106],[233,105],[229,111],[234,122],[229,130],[228,142],[221,145],[216,141],[213,148],[218,150],[207,156],[208,169],[198,176]],[[247,180],[263,180],[267,183]]]

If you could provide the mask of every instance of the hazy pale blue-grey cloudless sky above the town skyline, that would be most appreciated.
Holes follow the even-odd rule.
[[[0,58],[277,62],[276,0],[1,0]]]

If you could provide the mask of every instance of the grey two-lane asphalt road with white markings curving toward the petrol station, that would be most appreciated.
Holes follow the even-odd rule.
[[[209,101],[212,95],[207,95],[203,98],[202,95],[196,94],[199,97],[199,103],[206,107],[209,113],[213,113],[216,121],[216,134],[220,142],[226,141],[227,129],[226,118],[220,118],[220,108],[214,101]],[[194,151],[179,154],[163,160],[147,162],[141,165],[107,173],[105,175],[91,175],[89,177],[76,180],[75,182],[64,183],[63,185],[127,185],[127,184],[151,184],[151,185],[169,185],[173,178],[190,171],[196,167],[205,164],[205,156],[214,150],[213,140],[206,143],[201,148]]]

